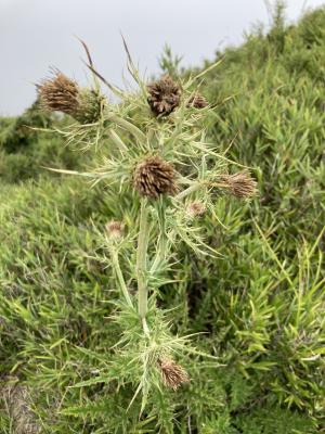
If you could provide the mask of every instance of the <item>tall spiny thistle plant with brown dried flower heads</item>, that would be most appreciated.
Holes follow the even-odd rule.
[[[216,197],[251,197],[256,181],[227,158],[220,143],[207,139],[205,119],[212,106],[199,86],[218,63],[188,78],[165,75],[147,82],[125,43],[136,85],[135,91],[127,91],[103,78],[83,47],[93,89],[81,89],[56,71],[38,86],[38,93],[47,110],[61,111],[77,122],[56,132],[80,149],[95,146],[98,155],[88,171],[56,171],[87,177],[92,184],[104,182],[106,194],[120,203],[116,220],[96,228],[101,252],[108,255],[99,257],[112,267],[120,294],[114,302],[114,319],[122,332],[112,348],[117,376],[121,383],[126,379],[138,383],[133,399],[142,392],[144,406],[153,385],[177,390],[187,383],[190,376],[178,360],[185,360],[185,353],[197,354],[190,336],[171,333],[168,312],[156,303],[162,285],[172,280],[178,246],[184,243],[199,256],[218,255],[205,240],[199,218],[211,213],[222,225]],[[103,97],[100,81],[119,103]]]

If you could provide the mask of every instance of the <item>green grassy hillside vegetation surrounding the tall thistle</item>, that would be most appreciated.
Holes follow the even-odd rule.
[[[298,25],[278,13],[216,55],[209,140],[252,168],[259,195],[216,197],[218,219],[202,218],[217,259],[178,246],[159,305],[197,354],[181,360],[191,382],[142,412],[131,374],[119,382],[128,367],[112,363],[118,294],[96,230],[126,204],[44,168],[92,159],[25,127],[68,119],[31,107],[1,120],[0,433],[324,431],[325,10]]]

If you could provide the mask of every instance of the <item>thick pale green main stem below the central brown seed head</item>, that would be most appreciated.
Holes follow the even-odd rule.
[[[139,315],[143,324],[145,323],[145,316],[147,312],[147,282],[146,282],[146,254],[148,242],[148,212],[147,201],[142,199],[140,212],[140,229],[138,237],[138,251],[136,251],[136,280],[138,280],[138,299],[139,299]]]

